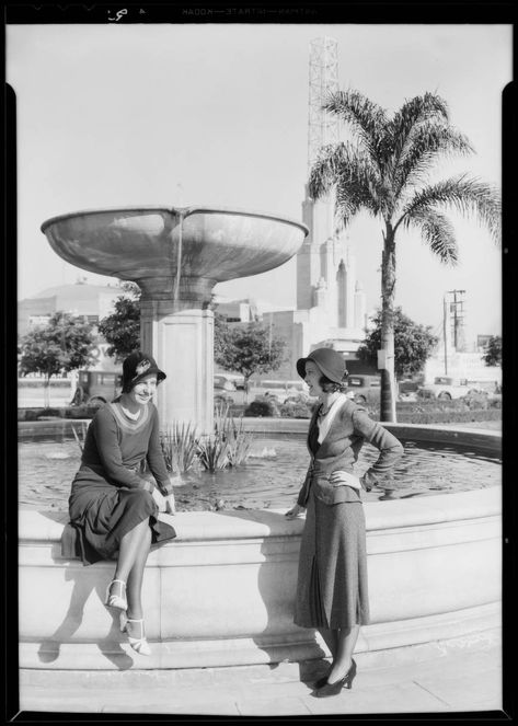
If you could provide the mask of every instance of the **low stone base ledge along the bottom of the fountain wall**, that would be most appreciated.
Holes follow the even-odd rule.
[[[500,603],[393,623],[378,623],[361,629],[355,658],[364,668],[383,668],[442,657],[452,649],[484,649],[500,643]],[[61,675],[78,670],[99,672],[103,685],[106,670],[127,669],[171,671],[199,668],[228,668],[267,664],[299,664],[329,656],[325,645],[313,631],[300,635],[242,637],[218,641],[150,642],[152,655],[139,656],[125,642],[20,644],[20,667],[27,671],[54,671]],[[91,678],[91,676],[90,676]],[[112,676],[113,678],[113,676]],[[42,679],[31,679],[43,684]],[[42,682],[41,682],[42,681]],[[49,677],[48,682],[51,682]],[[170,681],[168,681],[171,684]],[[64,678],[64,685],[66,679]],[[126,682],[126,685],[128,683]]]

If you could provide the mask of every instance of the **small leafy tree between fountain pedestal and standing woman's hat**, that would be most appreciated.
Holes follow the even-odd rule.
[[[270,335],[268,326],[254,322],[246,327],[227,327],[227,343],[215,360],[226,370],[241,373],[245,390],[254,373],[268,373],[280,367],[286,343]]]

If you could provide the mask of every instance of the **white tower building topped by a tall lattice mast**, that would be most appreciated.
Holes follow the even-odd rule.
[[[320,149],[339,141],[337,117],[322,108],[337,90],[337,42],[315,38],[309,62],[308,175]],[[365,293],[348,239],[336,228],[332,195],[315,201],[306,186],[302,221],[309,234],[297,254],[297,309],[269,314],[273,333],[287,343],[288,356],[276,374],[288,379],[297,359],[310,350],[327,346],[355,358],[365,339]]]

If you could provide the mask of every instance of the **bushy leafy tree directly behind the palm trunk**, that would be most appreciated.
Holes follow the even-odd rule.
[[[358,357],[372,366],[378,364],[381,347],[381,310],[371,318],[373,327],[365,343],[358,348]],[[423,370],[438,337],[431,334],[430,325],[419,325],[405,315],[401,308],[394,309],[394,372],[398,378],[412,376]]]

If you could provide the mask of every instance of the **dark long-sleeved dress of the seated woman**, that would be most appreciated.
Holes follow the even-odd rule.
[[[158,520],[151,494],[154,484],[138,473],[143,460],[159,489],[172,491],[156,406],[149,403],[137,422],[124,414],[118,400],[100,408],[89,426],[81,466],[72,482],[72,527],[64,532],[64,556],[80,556],[84,565],[114,558],[124,534],[145,519],[149,519],[153,544],[176,537],[170,525]]]

